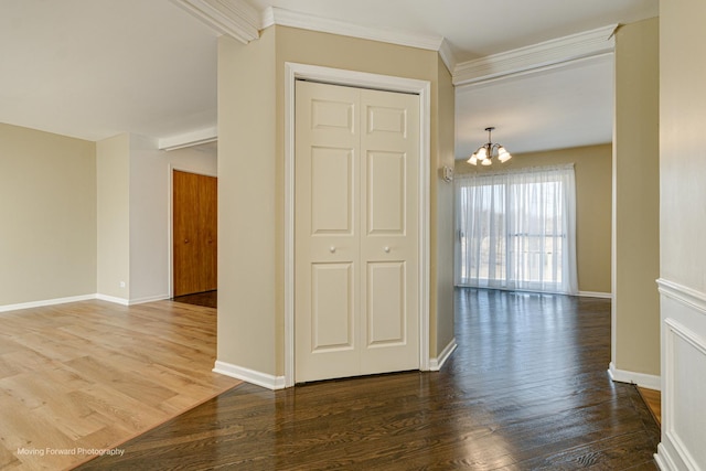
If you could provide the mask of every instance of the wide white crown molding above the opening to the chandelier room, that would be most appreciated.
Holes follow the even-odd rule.
[[[457,64],[453,85],[477,84],[612,53],[617,28],[612,24]]]

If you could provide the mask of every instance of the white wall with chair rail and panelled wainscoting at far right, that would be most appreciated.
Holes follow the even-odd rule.
[[[660,2],[663,470],[706,470],[706,2]]]

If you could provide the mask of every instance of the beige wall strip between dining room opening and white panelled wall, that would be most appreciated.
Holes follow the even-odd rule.
[[[660,375],[659,56],[656,18],[618,30],[612,366],[653,376]]]

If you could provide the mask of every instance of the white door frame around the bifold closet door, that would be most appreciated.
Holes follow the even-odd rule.
[[[285,387],[295,385],[295,81],[419,95],[419,370],[429,370],[429,167],[431,83],[285,63]]]

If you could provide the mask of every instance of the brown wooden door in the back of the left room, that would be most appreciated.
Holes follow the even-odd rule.
[[[215,176],[173,171],[174,296],[217,288],[217,193]]]

